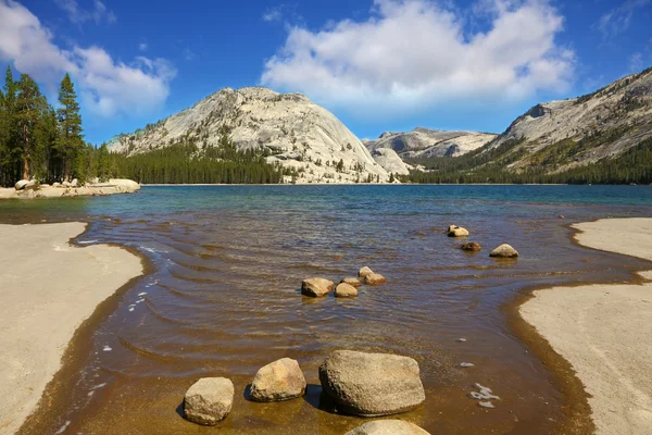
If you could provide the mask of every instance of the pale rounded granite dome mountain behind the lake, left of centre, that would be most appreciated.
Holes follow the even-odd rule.
[[[291,173],[296,183],[389,179],[362,142],[326,109],[300,94],[262,87],[222,89],[190,109],[115,137],[109,150],[134,157],[183,141],[205,154],[220,146],[225,132],[238,150],[261,152],[267,163]]]

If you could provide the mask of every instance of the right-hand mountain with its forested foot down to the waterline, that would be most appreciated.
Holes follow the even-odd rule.
[[[408,163],[425,167],[416,183],[651,183],[652,69],[537,104],[464,156]]]

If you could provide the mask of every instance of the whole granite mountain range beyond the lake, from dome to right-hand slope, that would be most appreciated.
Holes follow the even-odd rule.
[[[302,95],[226,88],[115,137],[110,150],[135,156],[192,140],[201,152],[225,130],[239,149],[259,150],[269,164],[292,171],[296,183],[387,183],[390,173],[436,183],[518,182],[518,174],[537,174],[538,182],[611,167],[625,157],[640,160],[632,152],[652,145],[652,69],[584,97],[537,104],[501,135],[415,128],[363,141]],[[644,162],[636,164],[645,170]]]

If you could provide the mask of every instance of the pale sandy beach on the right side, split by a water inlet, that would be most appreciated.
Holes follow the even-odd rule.
[[[652,260],[652,219],[573,226],[593,249]],[[641,276],[652,279],[652,272]],[[601,435],[652,434],[652,283],[536,290],[522,316],[575,369]]]

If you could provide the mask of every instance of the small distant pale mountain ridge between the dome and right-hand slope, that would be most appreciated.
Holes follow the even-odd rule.
[[[473,151],[493,140],[497,135],[477,132],[443,132],[415,128],[406,133],[386,132],[375,140],[366,140],[369,151],[390,148],[401,159],[455,157]]]

